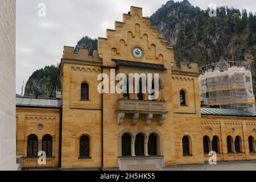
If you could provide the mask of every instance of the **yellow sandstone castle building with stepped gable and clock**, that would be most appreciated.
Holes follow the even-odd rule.
[[[88,49],[75,55],[73,47],[64,47],[61,100],[16,98],[23,167],[168,170],[207,165],[210,151],[218,163],[253,162],[256,115],[200,108],[197,64],[177,63],[166,43],[142,9],[132,6],[115,30],[98,38],[93,56]],[[159,97],[152,100],[141,89],[114,92],[118,73],[146,79],[158,74]],[[107,77],[115,84],[101,85]],[[110,93],[98,92],[102,86]],[[39,151],[46,152],[46,164],[38,163]]]

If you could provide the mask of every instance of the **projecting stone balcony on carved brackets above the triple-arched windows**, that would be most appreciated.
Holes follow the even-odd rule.
[[[140,114],[146,115],[146,125],[150,125],[153,115],[158,115],[158,124],[163,125],[166,119],[165,101],[117,100],[118,124],[123,123],[125,114],[133,114],[132,123],[136,125]]]

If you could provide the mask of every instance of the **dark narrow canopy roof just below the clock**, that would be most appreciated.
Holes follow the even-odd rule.
[[[112,61],[117,62],[118,65],[126,66],[126,67],[137,67],[137,68],[149,68],[149,69],[160,69],[166,71],[163,64],[152,64],[152,63],[142,63],[137,61],[126,61],[126,60],[118,60],[112,59]]]

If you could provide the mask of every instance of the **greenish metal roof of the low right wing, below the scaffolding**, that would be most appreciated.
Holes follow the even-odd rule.
[[[226,115],[226,116],[247,116],[247,117],[256,117],[256,114],[249,113],[242,110],[236,109],[218,109],[218,108],[201,108],[201,114],[203,115]]]

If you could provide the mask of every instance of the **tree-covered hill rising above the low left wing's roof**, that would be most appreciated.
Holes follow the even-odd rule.
[[[49,97],[55,83],[55,77],[58,72],[58,65],[51,65],[42,69],[36,70],[28,79],[25,87],[25,97]],[[55,95],[56,88],[60,89],[59,77],[56,79],[56,86],[53,89]]]

